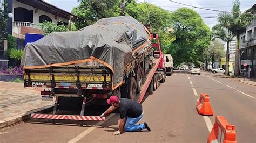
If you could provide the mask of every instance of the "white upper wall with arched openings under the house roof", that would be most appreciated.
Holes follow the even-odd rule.
[[[55,19],[54,18],[55,15],[52,15],[51,13],[48,13],[39,9],[38,9],[38,12],[35,13],[36,8],[33,8],[32,6],[23,4],[21,2],[17,2],[16,0],[12,0],[12,2],[13,2],[13,9],[12,9],[13,12],[14,12],[14,8],[18,8],[18,7],[25,8],[27,10],[33,10],[33,23],[35,24],[39,24],[39,16],[41,15],[46,15],[50,17],[52,22],[55,24],[57,24],[59,20],[62,20],[63,22],[68,22],[68,19],[64,19],[62,17],[57,17],[57,19]]]

